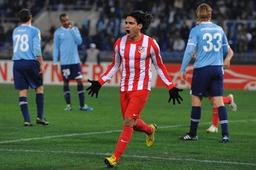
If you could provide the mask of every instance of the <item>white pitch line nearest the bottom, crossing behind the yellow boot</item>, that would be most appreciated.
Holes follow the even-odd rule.
[[[67,152],[67,151],[43,151],[43,150],[15,150],[15,149],[0,149],[2,152],[37,152],[37,153],[69,153],[69,154],[84,154],[84,155],[111,155],[111,153],[93,153],[93,152]],[[256,166],[255,163],[237,163],[229,161],[215,161],[215,160],[195,160],[195,159],[181,159],[181,158],[162,158],[155,156],[139,156],[139,155],[122,155],[128,158],[145,158],[152,160],[167,160],[167,161],[192,161],[198,163],[221,163],[221,164],[238,164],[246,166]]]

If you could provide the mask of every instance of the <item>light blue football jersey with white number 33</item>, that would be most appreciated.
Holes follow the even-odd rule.
[[[185,72],[194,52],[196,55],[194,68],[208,65],[222,66],[223,57],[228,54],[228,39],[221,26],[202,22],[192,28],[182,60],[182,73]]]

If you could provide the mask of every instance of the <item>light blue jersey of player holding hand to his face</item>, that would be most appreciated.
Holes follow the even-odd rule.
[[[80,63],[77,45],[82,44],[82,37],[77,26],[64,28],[61,26],[54,32],[53,63],[71,65]]]

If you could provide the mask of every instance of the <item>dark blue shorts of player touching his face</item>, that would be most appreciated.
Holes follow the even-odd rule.
[[[70,79],[83,78],[81,73],[80,63],[61,65],[61,73],[63,81],[69,81]]]

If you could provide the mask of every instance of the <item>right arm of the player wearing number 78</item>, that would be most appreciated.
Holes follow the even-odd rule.
[[[43,57],[41,52],[41,34],[39,30],[35,31],[35,36],[33,37],[33,54],[37,57],[40,63],[40,74],[43,74],[45,67],[43,65]]]

